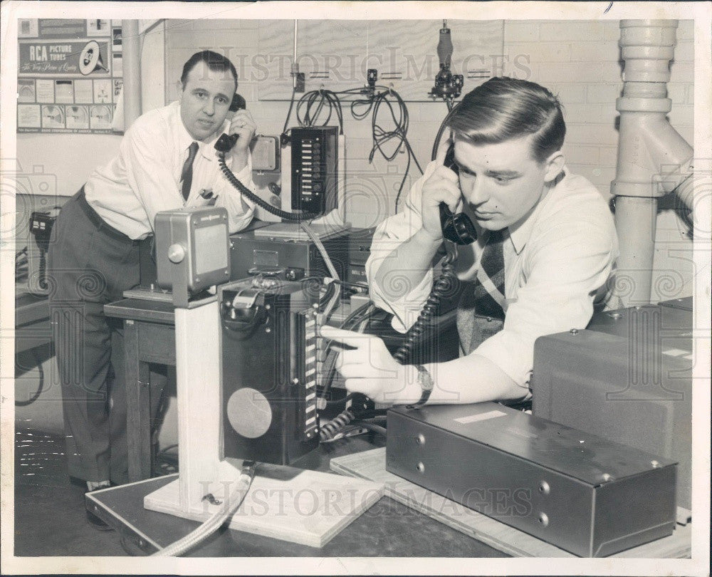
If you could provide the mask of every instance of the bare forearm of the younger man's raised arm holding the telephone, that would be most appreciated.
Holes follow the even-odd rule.
[[[423,229],[394,249],[381,263],[375,275],[375,283],[383,295],[396,300],[410,289],[418,286],[426,271],[430,269],[433,256],[441,244]],[[397,282],[393,282],[397,277]],[[410,289],[404,291],[403,284]]]

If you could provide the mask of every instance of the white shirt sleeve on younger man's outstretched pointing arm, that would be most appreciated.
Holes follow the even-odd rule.
[[[607,284],[617,257],[612,225],[562,222],[530,239],[526,281],[507,308],[503,330],[471,354],[488,358],[528,389],[537,338],[585,328],[593,301]]]

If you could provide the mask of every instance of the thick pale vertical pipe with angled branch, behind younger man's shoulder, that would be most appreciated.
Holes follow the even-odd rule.
[[[669,63],[674,58],[676,20],[622,20],[623,95],[615,195],[620,244],[618,296],[624,306],[650,302],[657,199],[691,173],[692,148],[666,114]]]

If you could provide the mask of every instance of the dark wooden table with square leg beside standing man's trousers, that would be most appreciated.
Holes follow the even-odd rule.
[[[125,298],[104,313],[123,319],[129,481],[140,481],[151,477],[151,395],[160,394],[150,363],[176,364],[173,304]]]

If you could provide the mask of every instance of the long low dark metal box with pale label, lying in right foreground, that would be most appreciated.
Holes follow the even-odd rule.
[[[493,402],[388,412],[386,469],[579,556],[675,527],[677,467]]]

